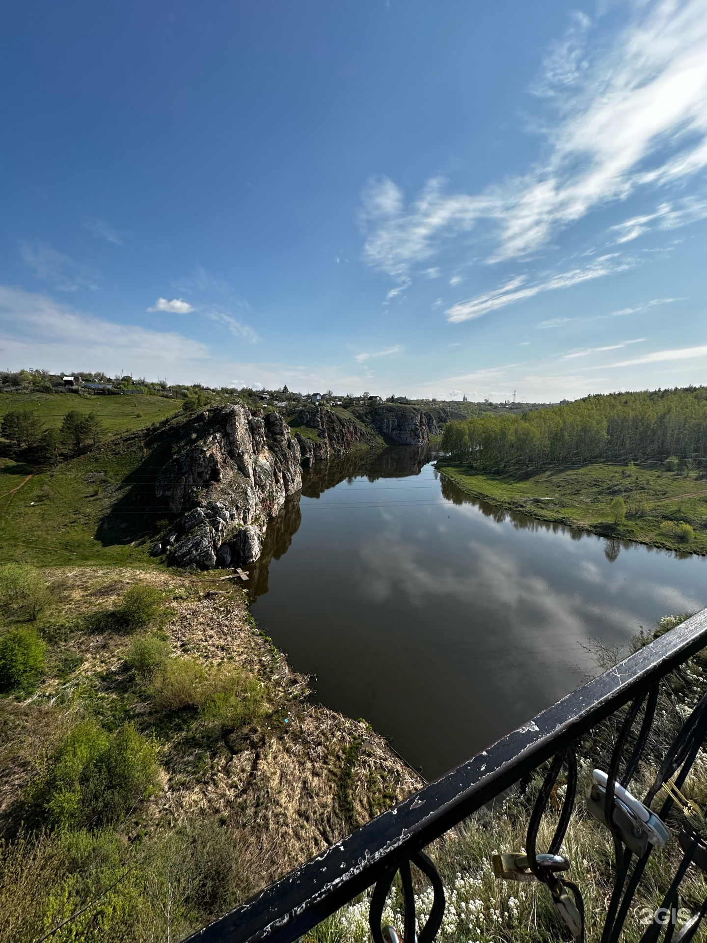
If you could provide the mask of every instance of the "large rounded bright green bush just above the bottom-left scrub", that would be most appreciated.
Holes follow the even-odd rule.
[[[27,790],[29,820],[49,829],[117,824],[157,787],[156,746],[126,723],[108,734],[93,720],[74,727]]]

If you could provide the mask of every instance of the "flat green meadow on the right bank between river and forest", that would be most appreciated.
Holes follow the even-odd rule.
[[[606,537],[636,540],[682,553],[707,554],[707,480],[697,472],[666,472],[659,463],[553,468],[513,474],[488,474],[448,461],[437,468],[455,485],[490,504],[522,511],[541,521],[558,521]],[[645,504],[644,514],[627,514],[615,523],[611,502]],[[674,536],[664,521],[685,521],[695,536]]]

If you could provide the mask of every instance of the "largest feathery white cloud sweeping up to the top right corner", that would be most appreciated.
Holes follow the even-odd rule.
[[[371,180],[362,214],[370,266],[407,275],[449,240],[463,237],[455,244],[467,252],[474,228],[490,262],[531,256],[598,208],[682,184],[707,166],[707,7],[635,0],[628,15],[607,39],[603,18],[592,24],[580,14],[551,50],[533,90],[551,109],[536,128],[548,143],[543,162],[478,194],[452,193],[434,177],[409,202],[392,180]],[[704,215],[703,200],[664,199],[616,232],[628,241]]]

